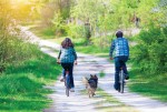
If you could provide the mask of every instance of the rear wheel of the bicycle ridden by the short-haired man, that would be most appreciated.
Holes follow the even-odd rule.
[[[125,86],[125,74],[124,74],[124,70],[122,68],[120,68],[120,71],[119,71],[119,92],[120,93],[124,93],[124,86]]]

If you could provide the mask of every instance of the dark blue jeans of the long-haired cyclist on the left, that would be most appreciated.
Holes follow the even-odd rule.
[[[70,86],[75,88],[73,83],[73,63],[61,63],[61,67],[63,68],[62,70],[62,75],[63,78],[66,77],[66,70],[69,71],[69,78],[70,78]]]

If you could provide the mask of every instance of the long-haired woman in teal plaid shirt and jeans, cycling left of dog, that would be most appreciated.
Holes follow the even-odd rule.
[[[69,77],[70,77],[70,85],[71,85],[70,91],[75,92],[75,83],[73,83],[72,72],[73,72],[73,63],[77,64],[77,53],[75,51],[73,43],[71,42],[71,40],[69,38],[66,38],[61,42],[61,48],[60,48],[57,61],[63,68],[62,77],[61,77],[60,81],[65,80],[65,77],[66,77],[65,71],[68,70]]]

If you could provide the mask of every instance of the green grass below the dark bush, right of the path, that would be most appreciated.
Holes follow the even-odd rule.
[[[167,102],[167,74],[149,75],[137,70],[130,71],[129,89],[151,99]]]

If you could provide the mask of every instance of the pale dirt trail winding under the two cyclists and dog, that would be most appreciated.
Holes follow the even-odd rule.
[[[45,53],[57,58],[57,54],[51,49],[58,50],[60,48],[58,44],[39,39],[26,28],[21,28],[21,30],[24,35],[30,37],[30,42],[39,44]],[[51,49],[49,49],[48,47]],[[89,74],[99,74],[99,72],[101,71],[105,72],[106,75],[104,78],[99,78],[99,86],[105,90],[106,93],[117,98],[120,102],[134,106],[139,112],[167,111],[167,104],[156,100],[151,100],[149,98],[141,96],[136,93],[131,93],[128,91],[127,88],[124,94],[115,91],[112,88],[115,72],[114,64],[109,63],[105,58],[78,53],[78,63],[79,64],[73,68],[76,92],[70,93],[70,96],[67,98],[65,95],[65,85],[59,81],[57,81],[53,86],[46,86],[52,89],[55,93],[49,95],[49,98],[53,100],[53,103],[50,109],[43,110],[45,112],[98,112],[99,110],[97,110],[96,104],[98,102],[101,102],[104,99],[102,96],[98,98],[98,94],[94,99],[89,99],[88,95],[82,94],[81,91],[85,90],[85,85],[82,84],[81,79],[82,77],[88,77]],[[124,111],[120,110],[118,112]],[[127,112],[134,111],[128,110]]]

